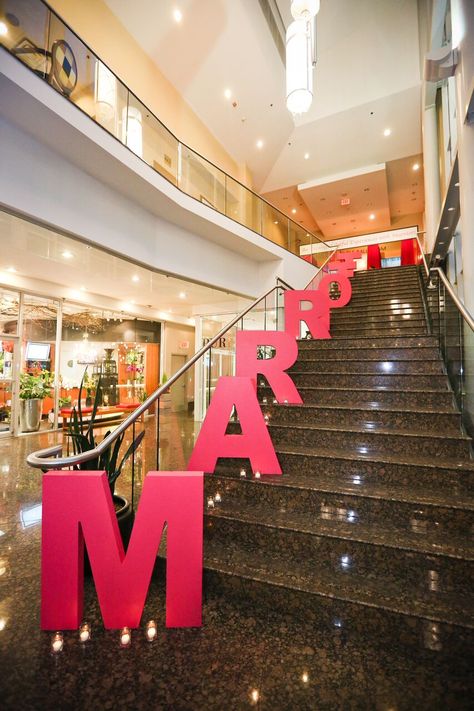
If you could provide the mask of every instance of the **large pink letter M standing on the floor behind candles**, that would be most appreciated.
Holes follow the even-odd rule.
[[[126,554],[105,472],[44,474],[42,629],[79,627],[84,541],[105,627],[138,627],[165,522],[168,523],[166,625],[199,627],[202,472],[148,474]]]

